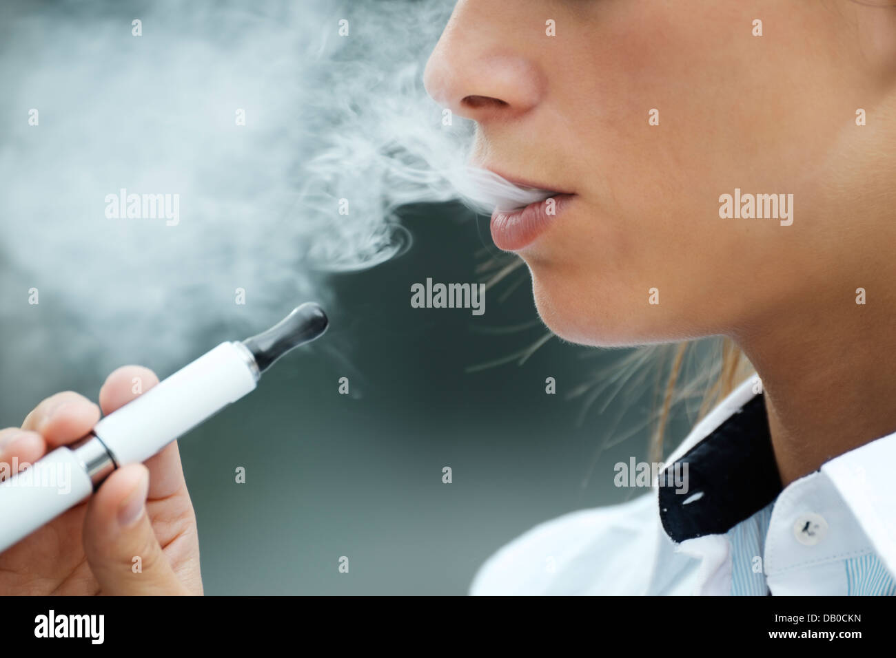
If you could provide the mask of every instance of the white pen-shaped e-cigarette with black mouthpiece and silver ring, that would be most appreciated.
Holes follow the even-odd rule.
[[[321,336],[327,324],[320,306],[304,303],[257,336],[221,343],[108,414],[83,439],[0,483],[0,551],[87,499],[116,468],[146,461],[250,393],[271,364]]]

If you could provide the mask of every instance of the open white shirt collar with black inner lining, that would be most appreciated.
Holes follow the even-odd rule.
[[[807,476],[830,481],[891,573],[896,573],[894,461],[896,433],[835,457]],[[745,380],[697,423],[667,465],[659,478],[668,483],[658,487],[659,518],[675,543],[724,534],[777,499],[780,475],[759,380]],[[687,487],[678,493],[683,488],[671,485],[673,475],[680,480],[683,473]]]

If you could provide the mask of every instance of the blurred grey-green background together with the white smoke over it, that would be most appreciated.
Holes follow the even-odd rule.
[[[0,9],[0,425],[59,390],[95,398],[124,363],[164,377],[316,299],[326,336],[180,441],[207,594],[464,594],[531,526],[639,493],[613,465],[645,458],[656,380],[585,407],[623,353],[554,338],[481,367],[546,333],[525,269],[481,316],[410,307],[411,284],[485,280],[498,253],[487,218],[421,175],[469,140],[418,84],[451,3],[189,6]],[[180,193],[180,224],[105,218],[121,187]]]

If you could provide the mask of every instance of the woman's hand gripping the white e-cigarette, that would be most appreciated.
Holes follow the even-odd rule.
[[[99,406],[71,391],[47,397],[22,429],[0,431],[0,461],[31,464],[81,439],[100,407],[110,414],[139,395],[134,378],[144,391],[159,383],[131,365],[108,376]],[[0,553],[0,595],[8,594],[202,594],[196,517],[177,443],[145,465],[119,468],[90,499]]]

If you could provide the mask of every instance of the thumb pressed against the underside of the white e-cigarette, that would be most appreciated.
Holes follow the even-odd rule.
[[[189,594],[146,514],[150,472],[142,464],[109,475],[87,507],[84,552],[103,594]]]

